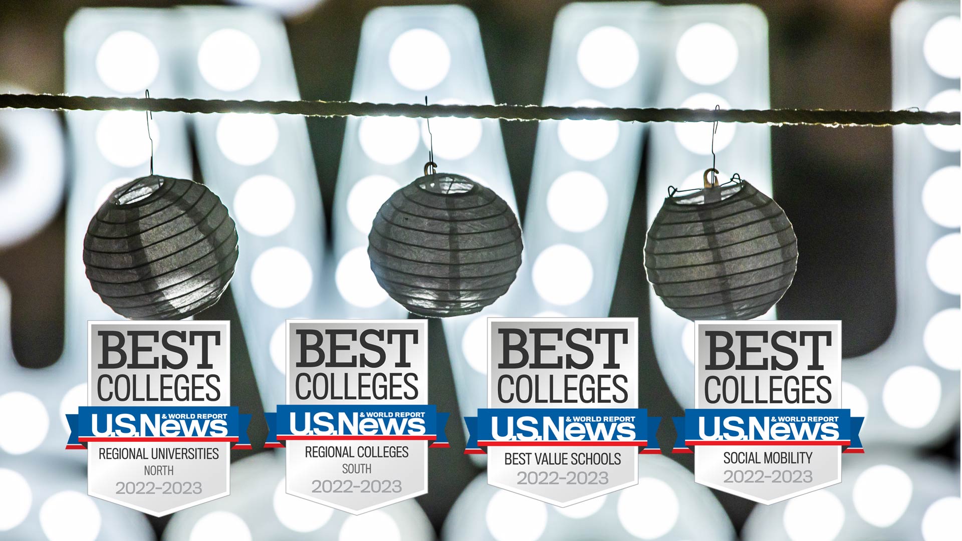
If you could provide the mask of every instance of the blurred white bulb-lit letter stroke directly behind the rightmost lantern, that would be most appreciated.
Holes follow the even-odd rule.
[[[768,21],[758,8],[679,6],[659,12],[667,50],[657,107],[768,109]],[[761,192],[772,194],[770,128],[720,123],[715,136],[722,181],[738,172]],[[652,125],[646,160],[648,226],[674,186],[701,188],[702,172],[712,167],[710,122]],[[638,249],[644,239],[638,239]],[[640,269],[639,272],[645,270]],[[651,340],[671,393],[694,405],[692,362],[694,325],[677,316],[648,286]],[[773,310],[762,319],[771,319]]]

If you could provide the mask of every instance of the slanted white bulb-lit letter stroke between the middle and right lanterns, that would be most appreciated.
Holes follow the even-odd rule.
[[[654,6],[572,4],[559,13],[544,104],[649,106],[660,62],[657,24],[648,15]],[[483,65],[480,42],[476,47]],[[487,318],[608,315],[645,129],[611,121],[539,125],[518,278],[480,314],[444,321],[462,412],[487,406]]]

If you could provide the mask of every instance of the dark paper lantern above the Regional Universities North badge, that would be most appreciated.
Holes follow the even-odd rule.
[[[150,175],[117,188],[84,238],[93,291],[132,320],[181,320],[210,307],[237,260],[227,207],[181,178]]]

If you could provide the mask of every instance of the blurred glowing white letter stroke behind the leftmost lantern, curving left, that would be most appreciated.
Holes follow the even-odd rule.
[[[78,12],[65,33],[66,92],[142,95],[149,85],[151,95],[177,95],[165,37],[167,17],[167,12],[152,10]],[[84,234],[90,217],[114,188],[149,172],[150,141],[143,113],[71,112],[66,121],[73,178],[66,203],[63,355],[41,370],[19,367],[12,353],[0,362],[0,400],[29,420],[15,427],[24,430],[19,443],[3,445],[9,436],[0,429],[0,454],[57,453],[66,460],[83,461],[83,453],[63,453],[67,436],[63,414],[87,401],[88,320],[120,319],[90,289],[80,257]],[[184,116],[155,114],[152,134],[159,172],[189,178]]]

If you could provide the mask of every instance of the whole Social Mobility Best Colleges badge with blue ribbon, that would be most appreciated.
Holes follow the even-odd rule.
[[[674,452],[695,480],[774,503],[842,480],[864,418],[842,409],[842,322],[696,322],[695,409]]]

